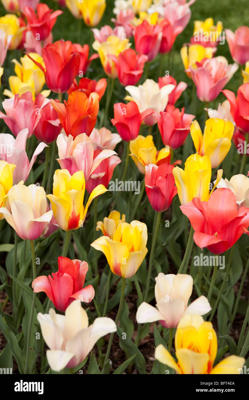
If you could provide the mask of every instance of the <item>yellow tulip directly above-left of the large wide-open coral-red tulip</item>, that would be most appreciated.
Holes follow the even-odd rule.
[[[215,189],[222,177],[222,170],[218,170]],[[192,154],[185,162],[184,170],[175,167],[173,169],[177,193],[181,204],[187,204],[193,198],[198,197],[200,201],[208,201],[210,180],[211,180],[211,161],[208,156]]]

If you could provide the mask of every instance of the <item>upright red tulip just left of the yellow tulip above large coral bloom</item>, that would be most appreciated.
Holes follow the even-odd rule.
[[[154,164],[145,166],[145,190],[151,207],[157,212],[166,211],[177,194],[173,168],[174,166],[168,162],[159,166]]]

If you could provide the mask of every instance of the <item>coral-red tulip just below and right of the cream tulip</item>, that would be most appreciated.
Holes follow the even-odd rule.
[[[166,112],[160,112],[160,116],[157,113],[154,114],[163,144],[171,149],[176,149],[183,144],[195,117],[191,114],[184,114],[184,110],[182,108],[180,111],[179,108],[168,104]]]

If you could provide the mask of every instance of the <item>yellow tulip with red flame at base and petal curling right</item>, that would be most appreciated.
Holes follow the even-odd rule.
[[[63,230],[83,226],[92,200],[107,191],[104,185],[96,186],[84,207],[85,187],[83,171],[75,172],[72,176],[68,170],[56,170],[54,173],[53,194],[48,194],[47,197],[52,204],[56,222]]]

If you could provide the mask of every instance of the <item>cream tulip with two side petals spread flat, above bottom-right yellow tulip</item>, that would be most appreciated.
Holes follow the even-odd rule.
[[[157,308],[143,302],[137,309],[139,324],[160,321],[164,328],[176,328],[183,315],[204,315],[210,310],[205,296],[200,296],[188,306],[193,290],[193,278],[186,274],[162,272],[155,278],[155,300]]]

